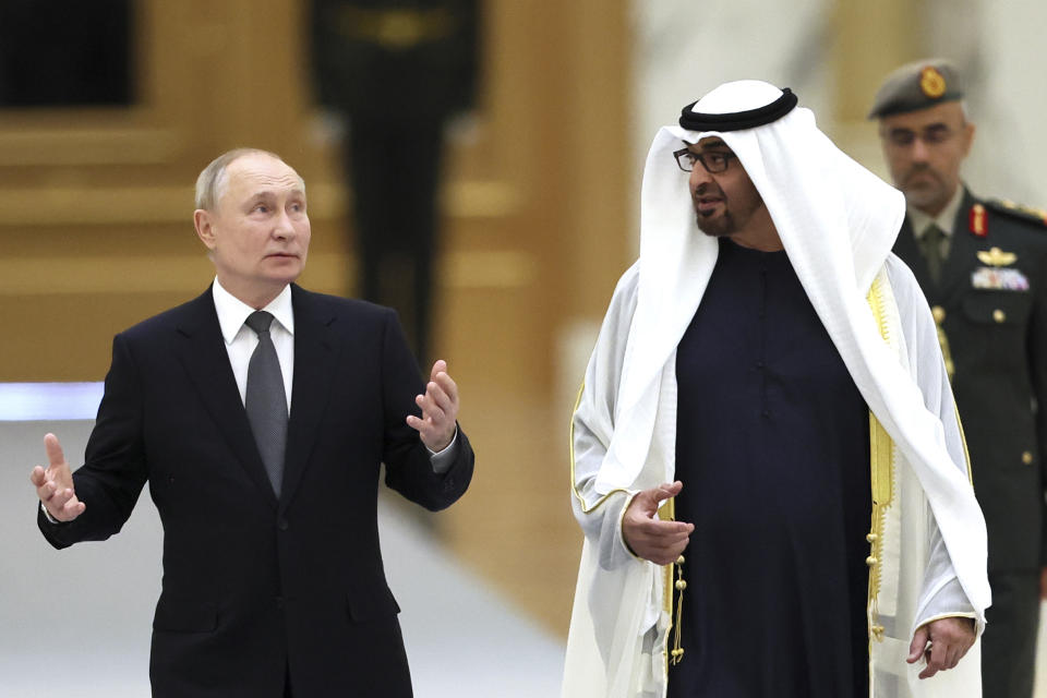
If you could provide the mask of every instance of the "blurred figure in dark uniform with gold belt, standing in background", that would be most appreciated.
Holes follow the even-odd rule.
[[[345,119],[359,296],[430,357],[444,131],[473,108],[476,0],[312,0],[320,104]]]

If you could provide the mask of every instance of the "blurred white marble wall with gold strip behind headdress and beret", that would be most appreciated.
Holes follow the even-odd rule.
[[[711,87],[743,77],[790,86],[841,147],[886,176],[865,113],[893,68],[955,61],[978,131],[964,177],[979,194],[1047,206],[1047,81],[1034,0],[633,0],[636,171],[658,125]]]

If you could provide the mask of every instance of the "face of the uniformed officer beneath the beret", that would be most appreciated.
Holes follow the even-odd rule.
[[[937,216],[960,185],[974,124],[959,101],[880,119],[880,142],[894,185],[911,206]]]

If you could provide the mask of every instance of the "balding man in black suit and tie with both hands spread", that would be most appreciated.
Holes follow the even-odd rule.
[[[116,337],[85,465],[45,437],[39,528],[56,547],[107,539],[149,483],[154,696],[410,696],[378,470],[430,509],[461,496],[457,387],[437,361],[423,393],[393,311],[293,284],[305,188],[277,156],[227,153],[196,192],[215,281]]]

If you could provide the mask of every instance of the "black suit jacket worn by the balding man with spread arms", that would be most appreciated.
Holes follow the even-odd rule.
[[[212,293],[118,335],[73,476],[87,505],[38,522],[56,547],[105,540],[142,485],[164,525],[154,696],[411,695],[376,524],[386,484],[429,509],[466,491],[473,454],[433,472],[405,423],[417,364],[393,311],[292,287],[294,374],[277,500],[237,389]]]

